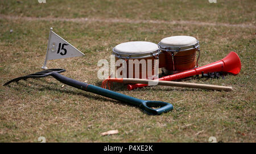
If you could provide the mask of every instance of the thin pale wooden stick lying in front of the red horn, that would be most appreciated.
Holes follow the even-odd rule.
[[[211,85],[211,84],[198,84],[198,83],[184,83],[184,82],[170,82],[162,80],[148,80],[148,79],[133,79],[123,78],[123,83],[142,83],[148,85],[166,85],[172,87],[185,87],[185,88],[200,88],[200,89],[211,89],[218,91],[232,91],[232,87],[222,85]]]

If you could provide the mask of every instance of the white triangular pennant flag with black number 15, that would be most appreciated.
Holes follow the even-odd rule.
[[[73,45],[69,44],[69,42],[65,41],[63,38],[53,32],[51,28],[51,31],[49,32],[46,60],[44,61],[44,66],[42,69],[47,69],[47,60],[78,57],[83,55],[84,54],[76,49]]]

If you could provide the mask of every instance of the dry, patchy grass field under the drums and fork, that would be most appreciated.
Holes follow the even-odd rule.
[[[0,1],[0,142],[256,142],[256,1]],[[2,85],[40,71],[49,28],[85,54],[55,59],[50,68],[101,85],[97,62],[127,41],[189,35],[200,41],[200,66],[236,52],[240,74],[186,82],[228,85],[232,92],[176,87],[114,91],[174,105],[147,115],[136,106],[80,91],[48,77]],[[13,32],[10,32],[10,30]],[[101,132],[118,130],[115,135]]]

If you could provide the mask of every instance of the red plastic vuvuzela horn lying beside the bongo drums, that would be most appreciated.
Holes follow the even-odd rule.
[[[199,75],[202,72],[208,73],[208,72],[230,72],[232,74],[238,74],[241,70],[241,61],[238,57],[237,53],[230,52],[225,58],[221,59],[220,61],[210,63],[205,66],[197,67],[192,70],[180,72],[173,75],[164,76],[162,78],[159,78],[158,80],[165,80],[165,81],[171,81],[171,80],[177,80],[186,78],[188,76],[193,75]],[[129,84],[128,89],[132,90],[134,88],[144,87],[147,86],[147,84]]]

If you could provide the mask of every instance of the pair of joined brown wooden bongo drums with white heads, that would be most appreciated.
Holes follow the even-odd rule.
[[[124,42],[113,48],[113,54],[115,61],[126,61],[127,78],[152,79],[158,77],[158,68],[175,74],[197,67],[200,45],[195,37],[172,36],[163,38],[158,45],[147,41]]]

